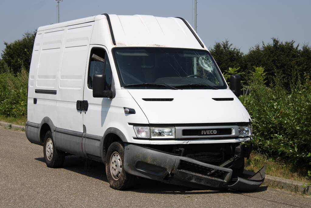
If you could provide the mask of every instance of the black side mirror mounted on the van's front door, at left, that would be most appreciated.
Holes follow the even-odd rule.
[[[93,97],[113,97],[112,90],[105,90],[106,75],[93,75]]]

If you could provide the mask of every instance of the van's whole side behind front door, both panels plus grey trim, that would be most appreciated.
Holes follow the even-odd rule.
[[[83,156],[84,77],[94,22],[38,31],[29,73],[27,138],[40,144],[40,123],[48,117],[55,125],[58,149]]]

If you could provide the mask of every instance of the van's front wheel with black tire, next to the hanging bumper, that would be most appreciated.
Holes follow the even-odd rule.
[[[119,158],[118,161],[113,160],[111,158]],[[113,142],[110,144],[107,154],[106,154],[106,175],[110,187],[116,190],[125,190],[134,185],[137,177],[130,175],[124,171],[123,168],[124,161],[124,145],[121,142]],[[110,164],[111,163],[111,164]],[[116,168],[119,168],[119,164],[121,164],[121,171],[114,169],[114,173],[118,174],[117,176],[112,172],[113,170],[110,167],[113,165],[117,165]]]

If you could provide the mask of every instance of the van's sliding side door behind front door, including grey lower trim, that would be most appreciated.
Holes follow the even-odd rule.
[[[83,100],[84,77],[94,22],[67,26],[58,72],[56,145],[63,151],[81,155],[83,115],[77,101]]]

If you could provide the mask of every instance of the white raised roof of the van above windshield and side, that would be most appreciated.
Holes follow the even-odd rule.
[[[102,14],[41,26],[38,31],[101,19],[107,19],[107,17]],[[115,38],[114,45],[117,47],[176,47],[207,50],[190,24],[182,18],[110,14],[109,19]],[[108,24],[104,27],[107,26]]]

